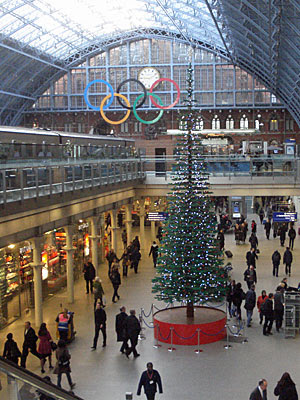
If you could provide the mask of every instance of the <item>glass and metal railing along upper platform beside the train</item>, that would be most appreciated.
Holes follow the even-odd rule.
[[[7,203],[111,184],[144,177],[142,162],[127,160],[69,160],[69,162],[35,162],[32,165],[0,165],[0,202]]]

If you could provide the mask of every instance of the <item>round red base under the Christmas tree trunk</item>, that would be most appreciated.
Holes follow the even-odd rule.
[[[171,343],[171,327],[173,344],[195,346],[213,343],[226,336],[226,314],[213,307],[195,306],[192,320],[186,317],[186,307],[173,307],[156,312],[153,315],[154,337],[160,342]]]

